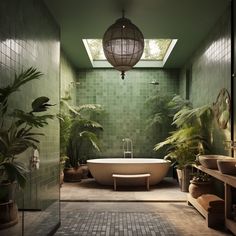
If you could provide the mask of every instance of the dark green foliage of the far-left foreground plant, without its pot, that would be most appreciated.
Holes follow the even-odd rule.
[[[19,75],[15,75],[12,84],[0,88],[0,181],[17,181],[21,187],[25,186],[28,169],[17,160],[18,155],[29,147],[36,148],[39,143],[37,137],[43,134],[34,132],[33,128],[42,128],[48,124],[48,119],[53,118],[53,115],[39,116],[36,114],[46,111],[53,105],[48,103],[49,98],[38,97],[31,104],[32,111],[25,112],[14,109],[11,114],[7,114],[8,98],[14,92],[19,91],[21,86],[29,81],[39,79],[41,76],[41,72],[35,68],[29,68]],[[5,122],[6,120],[8,122]]]

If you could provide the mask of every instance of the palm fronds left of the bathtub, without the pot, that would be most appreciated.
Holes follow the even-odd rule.
[[[61,154],[69,157],[66,161],[67,167],[78,167],[90,149],[101,150],[97,133],[103,128],[101,124],[86,115],[91,111],[101,111],[101,106],[97,104],[72,106],[61,100],[59,115]]]

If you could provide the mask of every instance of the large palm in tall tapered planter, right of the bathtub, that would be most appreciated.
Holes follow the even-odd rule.
[[[196,155],[209,150],[212,120],[213,112],[210,106],[192,108],[190,104],[184,105],[173,117],[172,125],[176,129],[165,141],[154,147],[157,151],[168,146],[166,158],[171,159],[176,165],[182,191],[188,191],[191,165]]]

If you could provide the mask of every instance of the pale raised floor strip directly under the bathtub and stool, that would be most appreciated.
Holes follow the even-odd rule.
[[[186,201],[186,193],[179,190],[173,178],[165,178],[161,183],[151,186],[117,187],[103,186],[94,179],[83,179],[79,183],[64,183],[61,188],[62,201]]]

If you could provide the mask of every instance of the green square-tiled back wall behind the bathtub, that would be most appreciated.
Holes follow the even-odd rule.
[[[135,157],[156,156],[152,150],[156,140],[145,133],[145,101],[158,93],[178,93],[178,70],[133,69],[122,80],[114,69],[94,69],[79,71],[77,80],[77,104],[97,103],[105,110],[100,120],[104,127],[100,156],[122,157],[123,138],[132,139]]]

